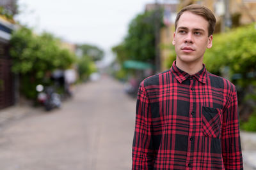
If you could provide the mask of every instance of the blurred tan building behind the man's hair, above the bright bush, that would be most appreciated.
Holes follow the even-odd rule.
[[[214,12],[215,32],[256,21],[256,0],[180,0],[179,8],[189,4],[202,4]]]

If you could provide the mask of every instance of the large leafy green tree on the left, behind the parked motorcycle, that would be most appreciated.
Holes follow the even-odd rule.
[[[45,80],[47,73],[66,69],[76,61],[74,54],[60,48],[59,39],[47,32],[36,36],[26,27],[13,32],[10,46],[12,71],[20,74],[20,90],[29,98],[35,97],[37,83],[49,82]]]

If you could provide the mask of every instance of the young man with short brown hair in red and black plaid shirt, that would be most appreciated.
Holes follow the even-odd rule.
[[[236,87],[203,64],[215,23],[204,6],[178,13],[175,62],[140,85],[132,169],[243,169]]]

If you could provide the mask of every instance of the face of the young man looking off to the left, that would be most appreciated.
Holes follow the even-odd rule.
[[[206,48],[212,46],[212,35],[208,36],[208,25],[207,20],[200,15],[189,11],[182,13],[172,42],[179,62],[203,62]]]

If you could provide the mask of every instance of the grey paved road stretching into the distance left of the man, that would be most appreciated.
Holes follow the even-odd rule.
[[[2,127],[0,169],[131,169],[135,104],[109,78],[79,85],[60,110]]]

